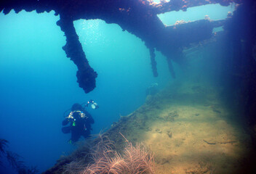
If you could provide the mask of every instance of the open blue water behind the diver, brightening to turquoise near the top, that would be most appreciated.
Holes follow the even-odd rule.
[[[223,16],[230,9],[224,11],[220,11]],[[196,12],[190,16],[201,19]],[[84,94],[76,83],[76,66],[62,49],[65,37],[55,24],[57,20],[54,12],[0,14],[0,138],[9,141],[8,150],[40,172],[76,148],[67,143],[70,135],[61,132],[63,112],[73,103],[94,99],[99,104],[99,109],[88,109],[95,119],[92,133],[99,133],[110,128],[120,115],[140,107],[151,83],[164,88],[173,80],[159,52],[159,77],[153,78],[149,51],[140,38],[116,24],[79,20],[74,22],[76,32],[89,65],[98,73],[97,87]],[[175,71],[177,77],[183,75],[177,65]],[[10,169],[0,168],[4,170]]]

